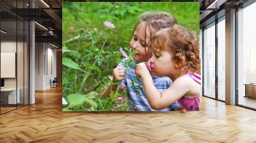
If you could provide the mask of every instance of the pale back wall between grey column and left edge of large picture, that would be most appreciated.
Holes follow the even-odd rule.
[[[56,77],[56,49],[53,48],[49,43],[36,43],[36,90],[51,88],[50,79],[53,80]]]

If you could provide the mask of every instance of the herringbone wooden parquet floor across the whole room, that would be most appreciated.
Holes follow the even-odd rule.
[[[256,142],[256,112],[202,97],[200,112],[61,112],[61,87],[0,116],[0,142]]]

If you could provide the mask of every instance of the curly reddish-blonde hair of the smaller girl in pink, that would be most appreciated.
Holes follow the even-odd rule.
[[[178,25],[164,28],[150,38],[149,47],[153,52],[170,52],[180,72],[200,74],[199,41],[194,32]]]

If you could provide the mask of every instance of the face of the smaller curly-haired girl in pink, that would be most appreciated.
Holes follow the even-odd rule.
[[[150,61],[152,71],[157,77],[168,76],[172,79],[176,73],[179,73],[179,69],[175,68],[175,63],[172,61],[172,54],[166,50],[161,52],[152,52]]]

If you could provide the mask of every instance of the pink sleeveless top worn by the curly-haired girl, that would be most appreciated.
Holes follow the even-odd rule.
[[[186,73],[193,80],[195,80],[198,84],[201,84],[201,76],[196,73]],[[180,105],[184,107],[186,110],[199,110],[199,95],[191,95],[185,94],[178,100]]]

